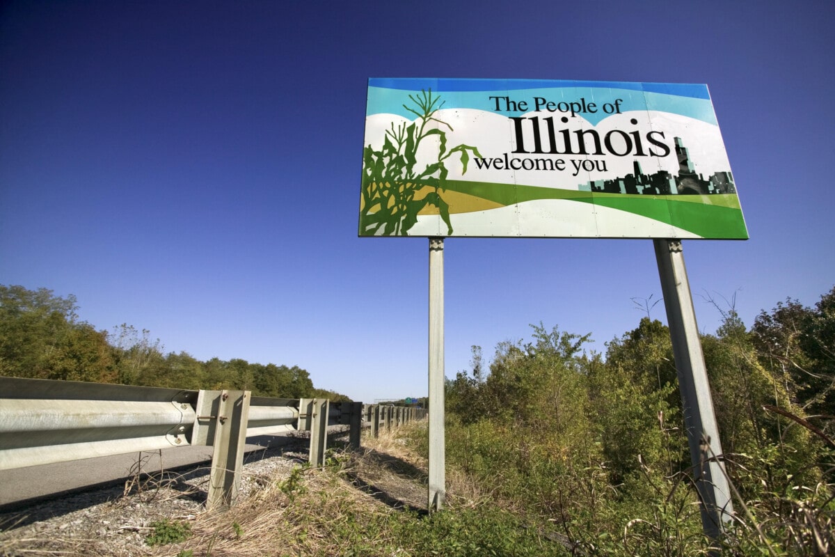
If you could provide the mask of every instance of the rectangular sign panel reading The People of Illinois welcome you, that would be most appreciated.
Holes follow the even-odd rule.
[[[359,235],[746,239],[706,85],[368,81]]]

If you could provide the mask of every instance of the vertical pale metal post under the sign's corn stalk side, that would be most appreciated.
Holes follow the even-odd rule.
[[[429,510],[446,497],[443,447],[443,238],[429,238]]]

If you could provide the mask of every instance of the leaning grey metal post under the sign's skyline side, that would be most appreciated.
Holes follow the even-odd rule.
[[[653,243],[676,357],[693,477],[701,499],[701,524],[705,534],[719,539],[724,524],[731,519],[733,504],[725,468],[719,459],[722,454],[719,429],[684,254],[681,241],[656,239]]]

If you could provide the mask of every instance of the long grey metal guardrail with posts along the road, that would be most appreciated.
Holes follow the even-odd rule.
[[[193,391],[0,377],[0,470],[185,446],[214,447],[207,506],[237,494],[245,439],[310,433],[310,462],[324,462],[327,426],[381,428],[426,416],[425,410],[329,403],[317,398],[251,397],[248,391]]]

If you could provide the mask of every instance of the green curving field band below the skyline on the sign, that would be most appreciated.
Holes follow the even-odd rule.
[[[500,205],[534,200],[570,200],[623,210],[676,226],[706,239],[748,239],[739,198],[734,194],[608,194],[464,180],[447,180],[445,185],[447,190],[475,195]]]

